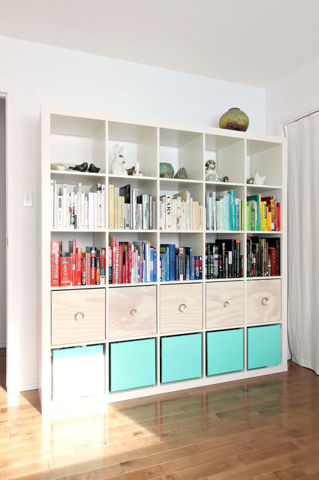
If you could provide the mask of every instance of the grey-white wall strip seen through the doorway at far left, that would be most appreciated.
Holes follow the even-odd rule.
[[[6,346],[6,101],[0,98],[0,347]]]

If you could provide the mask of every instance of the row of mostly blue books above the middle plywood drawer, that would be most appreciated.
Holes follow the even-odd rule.
[[[159,247],[160,282],[202,280],[202,256],[192,255],[192,247],[161,243]]]

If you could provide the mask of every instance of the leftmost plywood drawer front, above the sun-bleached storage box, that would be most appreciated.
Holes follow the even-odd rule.
[[[104,339],[104,288],[57,290],[51,293],[52,345]]]

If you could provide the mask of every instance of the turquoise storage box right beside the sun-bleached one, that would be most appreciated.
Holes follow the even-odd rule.
[[[155,338],[110,344],[110,391],[156,383]]]

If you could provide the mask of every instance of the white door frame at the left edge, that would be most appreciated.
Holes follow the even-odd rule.
[[[15,92],[0,84],[0,97],[6,99],[6,286],[7,286],[7,392],[18,391],[17,327],[17,160]],[[9,221],[10,219],[10,221]]]

